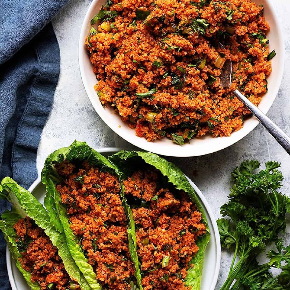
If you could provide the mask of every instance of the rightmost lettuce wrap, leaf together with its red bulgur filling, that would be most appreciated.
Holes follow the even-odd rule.
[[[168,282],[173,287],[175,282],[178,285],[176,280],[179,279],[191,289],[200,289],[204,251],[210,239],[210,231],[204,209],[180,168],[156,154],[143,151],[122,150],[109,156],[108,159],[119,169],[122,180],[122,195],[126,204],[129,204],[133,210],[134,219],[131,220],[135,220],[135,223],[131,227],[137,232],[138,258],[141,264],[139,279],[142,279],[142,284],[162,287],[166,286],[166,282]],[[147,173],[146,166],[148,167]],[[142,168],[142,172],[140,172],[140,168]],[[156,172],[154,173],[154,171]],[[155,188],[153,188],[154,186]],[[186,196],[182,197],[182,194]],[[188,201],[186,201],[187,198]],[[191,204],[193,211],[188,209],[190,202],[193,203]],[[186,204],[186,210],[182,203]],[[182,211],[190,216],[184,216],[183,219],[180,219]],[[157,220],[155,213],[158,215]],[[176,215],[179,215],[179,218],[176,219],[178,230],[173,229],[174,226],[177,226],[177,224],[174,225]],[[144,220],[144,216],[151,217],[151,219]],[[164,218],[167,218],[169,223],[166,223]],[[194,224],[192,223],[193,219],[195,219]],[[161,240],[164,234],[157,229],[164,229],[164,226],[166,226],[166,232],[171,232],[174,239],[166,235],[166,243],[162,244]],[[158,235],[158,233],[161,234]],[[155,241],[154,235],[156,235]],[[197,246],[197,251],[192,253],[190,257],[181,254],[182,243],[187,236],[190,243],[195,240],[190,244],[191,247]],[[180,251],[177,255],[174,255],[175,248]],[[150,249],[151,253],[154,251],[154,254],[149,255],[146,260],[146,254],[150,254]],[[156,258],[160,253],[162,255]],[[173,262],[170,262],[171,260]],[[182,260],[183,267],[187,270],[186,273],[182,275],[176,271],[175,277],[171,279],[174,267],[178,265],[182,269]],[[159,275],[157,281],[152,279],[153,273]]]

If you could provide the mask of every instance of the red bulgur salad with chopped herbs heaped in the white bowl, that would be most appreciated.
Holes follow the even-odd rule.
[[[85,42],[101,103],[148,141],[240,130],[250,111],[233,90],[258,106],[276,54],[263,9],[251,0],[107,0]],[[233,84],[222,88],[229,58]]]

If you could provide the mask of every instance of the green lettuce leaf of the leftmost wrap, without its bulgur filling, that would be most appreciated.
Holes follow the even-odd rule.
[[[28,215],[39,227],[44,229],[44,232],[48,235],[52,244],[57,247],[58,254],[63,260],[65,269],[69,276],[77,280],[83,290],[90,290],[88,283],[83,278],[83,275],[80,273],[79,268],[70,255],[65,235],[56,231],[55,227],[50,223],[50,217],[43,205],[29,191],[19,186],[10,177],[5,177],[1,182],[0,197],[12,203],[11,211],[5,211],[1,215],[2,220],[0,221],[0,229],[3,231],[4,238],[8,244],[12,257],[16,260],[19,257],[19,251],[15,242],[17,235],[13,225],[19,219]],[[21,267],[21,264],[18,263],[17,267]],[[30,273],[22,268],[19,270],[26,281],[27,279],[30,279]],[[28,284],[30,287],[36,287],[35,283],[31,284],[31,282],[29,282]]]

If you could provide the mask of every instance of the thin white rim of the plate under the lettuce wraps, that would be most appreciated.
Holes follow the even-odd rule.
[[[106,154],[106,153],[110,154],[110,153],[116,153],[116,152],[123,150],[123,149],[124,148],[117,148],[117,147],[108,147],[108,148],[102,147],[102,148],[97,148],[95,150],[101,154]],[[125,148],[125,150],[126,150],[126,148]],[[221,244],[220,244],[220,235],[219,235],[219,231],[218,231],[218,224],[216,222],[216,219],[215,219],[215,216],[214,216],[213,211],[211,209],[211,206],[207,202],[206,198],[204,197],[204,195],[202,194],[200,189],[195,185],[195,183],[187,175],[185,175],[185,177],[189,180],[189,183],[191,184],[191,186],[195,190],[196,195],[198,196],[198,198],[202,202],[203,207],[204,207],[204,211],[207,212],[207,214],[209,216],[209,220],[211,221],[211,224],[213,226],[213,233],[211,232],[211,238],[213,238],[213,241],[216,244],[216,246],[215,246],[216,266],[215,266],[215,273],[213,275],[211,287],[208,290],[214,290],[215,286],[217,284],[217,281],[218,281],[218,276],[220,273],[220,264],[221,264]],[[37,187],[41,184],[42,184],[41,177],[38,177],[31,184],[28,191],[33,193],[33,191],[35,191],[37,189]],[[16,283],[15,283],[15,279],[13,276],[12,260],[13,259],[11,259],[11,254],[10,254],[10,251],[8,249],[8,246],[6,246],[6,265],[7,265],[7,271],[8,271],[10,285],[11,285],[12,290],[19,290],[21,288],[17,288]],[[204,271],[205,271],[205,269],[204,269]]]

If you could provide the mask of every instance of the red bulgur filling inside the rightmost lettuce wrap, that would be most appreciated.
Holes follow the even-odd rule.
[[[189,262],[198,251],[195,241],[205,233],[205,225],[187,195],[162,187],[161,181],[153,167],[136,171],[124,181],[137,228],[143,289],[191,289],[183,281],[191,266]],[[140,201],[146,202],[145,207],[134,206]],[[169,257],[168,265],[161,267],[165,256]]]

